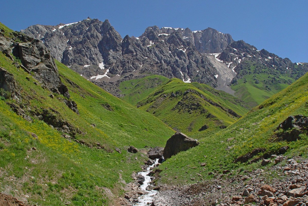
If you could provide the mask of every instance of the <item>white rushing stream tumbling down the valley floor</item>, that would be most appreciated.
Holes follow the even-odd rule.
[[[145,206],[148,205],[148,202],[151,204],[152,203],[152,196],[156,195],[157,191],[156,190],[151,190],[148,191],[146,188],[150,185],[151,182],[151,177],[148,176],[148,174],[152,171],[150,170],[151,167],[154,168],[154,165],[158,163],[158,159],[154,160],[154,164],[149,166],[147,168],[146,172],[138,172],[139,175],[142,175],[144,177],[144,182],[142,185],[140,185],[140,189],[147,192],[145,195],[141,195],[138,200],[139,202],[137,204],[134,204],[133,206]]]

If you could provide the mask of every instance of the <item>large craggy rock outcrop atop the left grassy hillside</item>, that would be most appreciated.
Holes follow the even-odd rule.
[[[33,39],[22,33],[14,33],[14,37],[8,38],[0,32],[0,50],[14,60],[10,54],[20,59],[26,72],[47,87],[52,92],[68,95],[67,87],[61,82],[58,68],[46,46],[39,40]]]

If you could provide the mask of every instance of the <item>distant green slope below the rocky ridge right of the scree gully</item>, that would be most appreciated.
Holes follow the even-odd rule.
[[[265,99],[288,87],[295,79],[289,74],[281,74],[279,71],[269,71],[265,66],[258,66],[251,61],[244,61],[248,70],[242,71],[241,79],[231,88],[235,95],[247,102],[251,107],[261,104]],[[258,81],[259,83],[256,83]]]

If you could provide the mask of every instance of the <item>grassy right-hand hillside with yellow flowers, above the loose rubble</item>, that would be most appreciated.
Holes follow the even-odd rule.
[[[292,118],[289,118],[289,123],[283,123],[291,115],[295,120],[291,122]],[[297,115],[303,115],[302,119]],[[251,171],[261,167],[263,158],[281,154],[287,147],[284,155],[306,157],[307,116],[308,73],[225,130],[205,134],[199,146],[168,159],[160,166],[160,174],[165,174],[161,175],[161,181],[189,184],[212,178],[209,172],[222,174],[223,170],[230,170],[236,174]],[[286,126],[291,124],[295,126]],[[206,166],[201,167],[201,163]]]

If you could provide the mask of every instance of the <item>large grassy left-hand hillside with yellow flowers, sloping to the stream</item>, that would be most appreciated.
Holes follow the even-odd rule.
[[[0,27],[5,42],[29,43]],[[146,160],[128,145],[163,146],[174,131],[59,62],[70,96],[52,92],[24,61],[0,53],[0,192],[38,205],[116,205],[105,191],[121,193]]]

